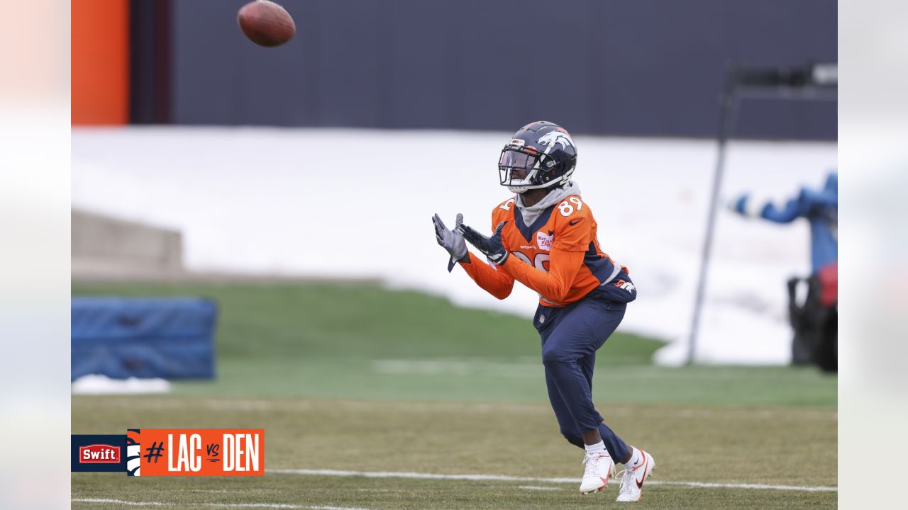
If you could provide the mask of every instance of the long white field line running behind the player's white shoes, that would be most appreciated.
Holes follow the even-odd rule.
[[[365,478],[410,478],[417,480],[473,480],[495,482],[535,482],[543,484],[577,484],[579,478],[538,478],[534,476],[507,475],[440,475],[438,473],[407,473],[390,471],[342,471],[338,469],[266,469],[266,473],[276,475],[310,475],[310,476],[362,476]],[[711,482],[677,482],[669,480],[646,481],[646,485],[676,485],[684,487],[727,488],[727,489],[762,489],[775,491],[803,492],[838,492],[838,487],[808,485],[763,485],[763,484],[717,484]]]

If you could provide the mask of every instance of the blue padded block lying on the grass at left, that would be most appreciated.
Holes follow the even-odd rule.
[[[201,298],[72,299],[72,378],[213,378],[217,305]]]

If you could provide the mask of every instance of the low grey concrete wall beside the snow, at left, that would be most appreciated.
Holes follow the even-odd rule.
[[[134,221],[72,211],[74,280],[159,278],[183,274],[183,236]]]

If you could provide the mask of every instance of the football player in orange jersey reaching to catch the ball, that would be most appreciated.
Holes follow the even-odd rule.
[[[597,222],[571,175],[577,146],[554,123],[529,123],[514,133],[498,159],[500,184],[515,196],[492,210],[492,235],[462,224],[449,230],[436,214],[435,236],[482,289],[505,299],[514,280],[535,290],[533,326],[542,338],[548,399],[561,434],[586,449],[580,492],[605,489],[615,463],[625,466],[617,501],[638,501],[656,467],[652,456],[629,446],[603,423],[593,405],[596,351],[624,318],[637,289],[599,248]],[[489,263],[467,250],[469,241]]]

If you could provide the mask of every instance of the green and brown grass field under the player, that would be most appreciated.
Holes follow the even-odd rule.
[[[74,434],[265,428],[269,471],[238,479],[73,474],[74,508],[618,505],[614,482],[605,494],[577,493],[582,453],[558,434],[528,320],[363,284],[73,291],[203,295],[222,312],[216,381],[178,383],[164,396],[74,397]],[[643,505],[836,505],[834,377],[812,368],[658,368],[649,359],[659,345],[614,335],[599,350],[594,381],[609,426],[656,457]],[[326,469],[373,475],[316,474]],[[417,477],[425,474],[492,477]]]

